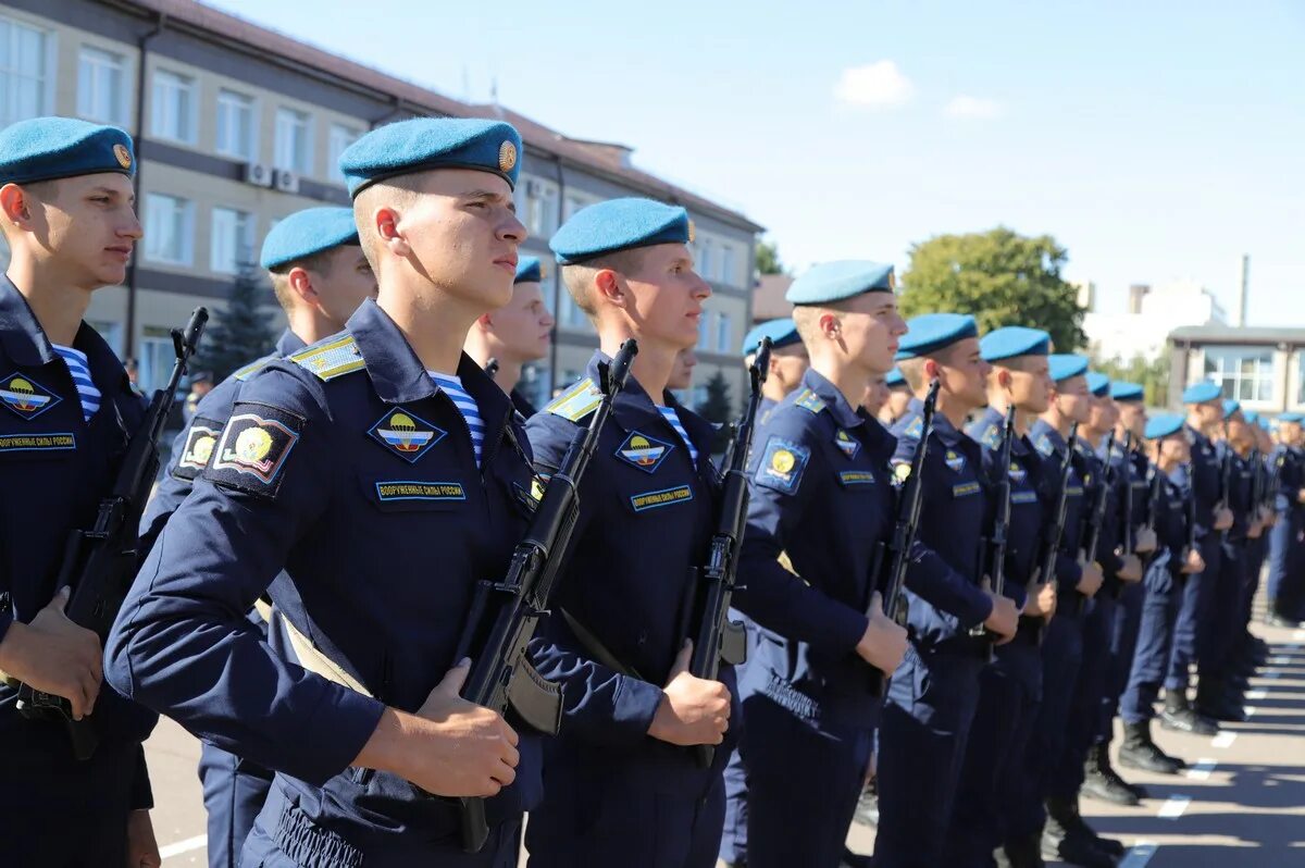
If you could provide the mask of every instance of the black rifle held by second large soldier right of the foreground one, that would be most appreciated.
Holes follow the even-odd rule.
[[[735,428],[733,442],[729,446],[716,533],[707,550],[707,563],[696,570],[699,608],[689,674],[705,681],[716,680],[722,660],[737,666],[748,655],[744,628],[728,620],[728,613],[735,591],[735,574],[739,572],[739,546],[748,518],[748,453],[752,452],[752,435],[756,431],[757,410],[762,398],[761,386],[766,382],[769,369],[770,338],[763,338],[757,358],[748,369],[750,388],[748,407]],[[707,769],[715,758],[715,747],[697,744],[693,747],[693,753],[698,765]]]

